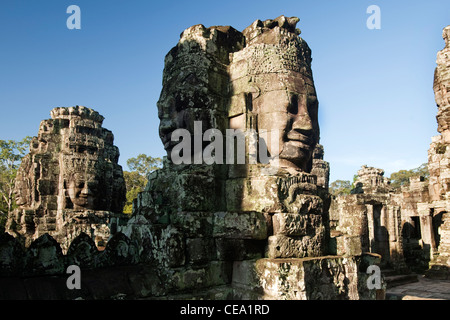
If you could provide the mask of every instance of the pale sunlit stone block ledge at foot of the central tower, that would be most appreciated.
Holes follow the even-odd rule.
[[[370,255],[247,260],[235,262],[232,284],[241,299],[376,299],[364,270],[377,263],[379,257]]]

